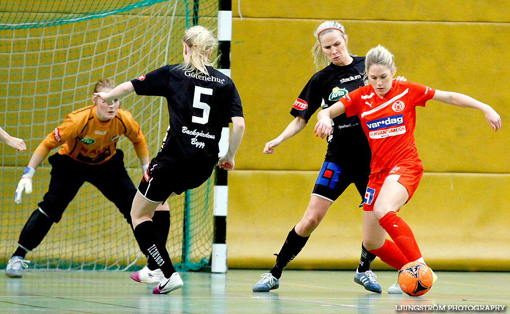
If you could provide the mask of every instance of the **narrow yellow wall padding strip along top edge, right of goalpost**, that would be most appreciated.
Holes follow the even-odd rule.
[[[234,16],[257,18],[508,22],[507,10],[508,2],[489,0],[232,1]]]

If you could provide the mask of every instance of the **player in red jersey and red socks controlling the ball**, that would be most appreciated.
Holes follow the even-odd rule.
[[[386,234],[379,232],[380,225],[409,261],[424,262],[411,228],[396,215],[413,196],[423,174],[414,140],[416,106],[424,107],[432,99],[479,109],[494,131],[501,127],[501,117],[491,106],[464,94],[392,81],[396,71],[393,55],[380,45],[367,53],[365,68],[370,85],[319,112],[315,133],[321,138],[330,134],[330,118],[339,114],[360,118],[372,150],[363,208],[371,219],[363,220],[364,246],[377,256],[391,254],[383,248]]]

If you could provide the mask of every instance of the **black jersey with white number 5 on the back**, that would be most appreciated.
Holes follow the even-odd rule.
[[[209,76],[165,65],[131,81],[138,95],[164,96],[169,127],[157,158],[161,161],[218,158],[222,127],[243,116],[234,82],[208,66]]]

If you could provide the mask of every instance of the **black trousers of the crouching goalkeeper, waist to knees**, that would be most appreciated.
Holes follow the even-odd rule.
[[[116,150],[111,159],[101,164],[83,163],[58,153],[49,156],[51,179],[39,207],[58,223],[83,183],[89,182],[112,201],[131,223],[130,213],[136,187],[125,170],[123,158],[121,150]]]

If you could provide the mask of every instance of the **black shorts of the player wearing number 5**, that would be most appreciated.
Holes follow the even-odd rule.
[[[163,164],[154,158],[140,180],[138,191],[151,202],[164,202],[172,193],[179,195],[206,182],[216,162],[217,159],[210,159]]]

